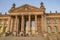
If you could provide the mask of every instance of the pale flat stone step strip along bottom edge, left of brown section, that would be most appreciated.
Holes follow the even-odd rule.
[[[0,37],[0,40],[45,40],[42,37]]]

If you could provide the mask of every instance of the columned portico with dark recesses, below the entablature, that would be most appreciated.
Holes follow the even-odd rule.
[[[10,32],[16,32],[17,34],[41,32],[41,15],[11,15],[11,19]]]

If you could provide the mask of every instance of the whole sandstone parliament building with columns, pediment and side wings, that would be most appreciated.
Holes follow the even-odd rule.
[[[35,36],[60,34],[60,13],[46,13],[44,3],[40,7],[13,4],[8,13],[0,13],[0,36]],[[54,36],[54,37],[55,37]]]

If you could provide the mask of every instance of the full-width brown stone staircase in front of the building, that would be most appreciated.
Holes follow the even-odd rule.
[[[60,40],[60,34],[58,34],[57,36],[55,34],[49,34],[47,36],[33,35],[33,36],[27,36],[27,37],[7,36],[7,37],[0,37],[0,40]]]

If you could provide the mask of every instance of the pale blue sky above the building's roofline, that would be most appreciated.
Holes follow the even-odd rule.
[[[16,7],[24,4],[30,4],[39,8],[41,2],[44,3],[46,12],[60,12],[60,0],[0,0],[0,12],[3,14],[8,12],[13,3],[16,4]]]

